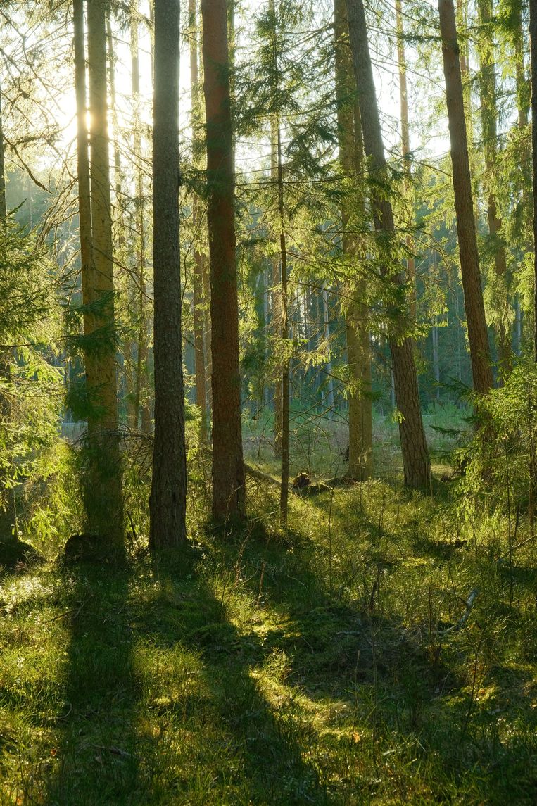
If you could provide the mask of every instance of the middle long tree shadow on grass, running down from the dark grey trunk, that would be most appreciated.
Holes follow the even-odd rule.
[[[185,657],[198,659],[200,671],[194,684],[172,686],[154,704],[168,732],[198,733],[169,796],[189,792],[189,804],[339,802],[328,796],[308,758],[315,742],[311,726],[289,704],[280,711],[264,691],[261,672],[270,648],[233,623],[225,592],[219,598],[204,571],[187,588],[166,564],[159,563],[156,574],[164,606],[160,613],[140,610],[135,629],[164,653],[180,647]],[[177,617],[169,609],[174,598],[182,611]],[[194,772],[197,764],[204,769]],[[207,775],[209,781],[200,780]]]

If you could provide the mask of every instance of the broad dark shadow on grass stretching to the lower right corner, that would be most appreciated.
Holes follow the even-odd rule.
[[[406,800],[413,777],[409,769],[418,758],[428,770],[423,775],[429,776],[431,796],[436,780],[450,780],[453,792],[475,787],[478,800],[484,797],[498,806],[509,797],[512,802],[532,802],[536,784],[527,759],[535,752],[535,716],[527,711],[522,717],[519,706],[511,709],[508,689],[498,693],[497,702],[481,701],[483,687],[496,677],[487,669],[488,650],[481,640],[472,646],[464,635],[457,641],[457,632],[443,637],[442,625],[437,629],[424,624],[421,634],[409,634],[395,613],[383,613],[374,600],[338,600],[319,585],[310,564],[314,547],[310,552],[307,542],[291,551],[253,543],[247,551],[241,547],[240,555],[252,599],[259,600],[262,590],[267,605],[280,617],[280,624],[264,634],[265,659],[271,651],[283,651],[289,659],[287,682],[339,712],[325,722],[324,733],[330,732],[330,723],[340,739],[350,733],[347,754],[344,742],[339,742],[337,754],[343,800],[367,799],[363,769],[369,756],[375,786],[384,786],[386,797],[394,791]],[[461,665],[466,653],[473,672],[469,679]],[[371,741],[360,736],[360,728],[360,746],[354,745],[353,725],[369,731]],[[517,741],[512,740],[515,725],[522,727]],[[318,737],[311,735],[310,741]],[[326,735],[325,750],[327,779],[331,762]],[[382,761],[396,758],[396,753],[401,754],[399,767]],[[343,759],[347,776],[341,775]],[[381,785],[379,768],[385,775]],[[332,776],[328,786],[334,797],[335,780]]]

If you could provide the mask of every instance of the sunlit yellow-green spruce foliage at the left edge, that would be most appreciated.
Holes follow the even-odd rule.
[[[42,478],[40,461],[57,440],[59,309],[47,252],[11,218],[0,230],[0,256],[0,472],[2,509],[14,520],[19,481]],[[26,530],[24,509],[20,521]]]

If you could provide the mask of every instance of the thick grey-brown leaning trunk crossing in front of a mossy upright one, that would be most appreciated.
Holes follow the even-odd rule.
[[[362,0],[347,0],[347,10],[352,60],[364,135],[364,151],[368,157],[370,175],[376,181],[381,180],[378,185],[377,182],[372,185],[371,206],[375,230],[381,236],[378,243],[381,250],[382,274],[396,289],[400,289],[403,284],[397,266],[393,210],[385,193],[381,193],[378,189],[386,181],[386,160]],[[406,319],[406,311],[392,306],[388,313],[393,323],[389,348],[392,355],[395,396],[398,409],[402,414],[399,434],[405,484],[408,487],[426,487],[431,478],[431,463],[419,405],[413,340],[404,334],[402,327]]]

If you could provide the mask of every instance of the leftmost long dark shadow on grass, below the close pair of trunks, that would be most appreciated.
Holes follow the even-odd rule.
[[[128,573],[84,565],[64,571],[61,614],[70,628],[65,650],[65,715],[57,722],[55,767],[47,804],[131,804],[137,795],[139,747],[135,709]],[[40,801],[41,802],[41,801]]]

